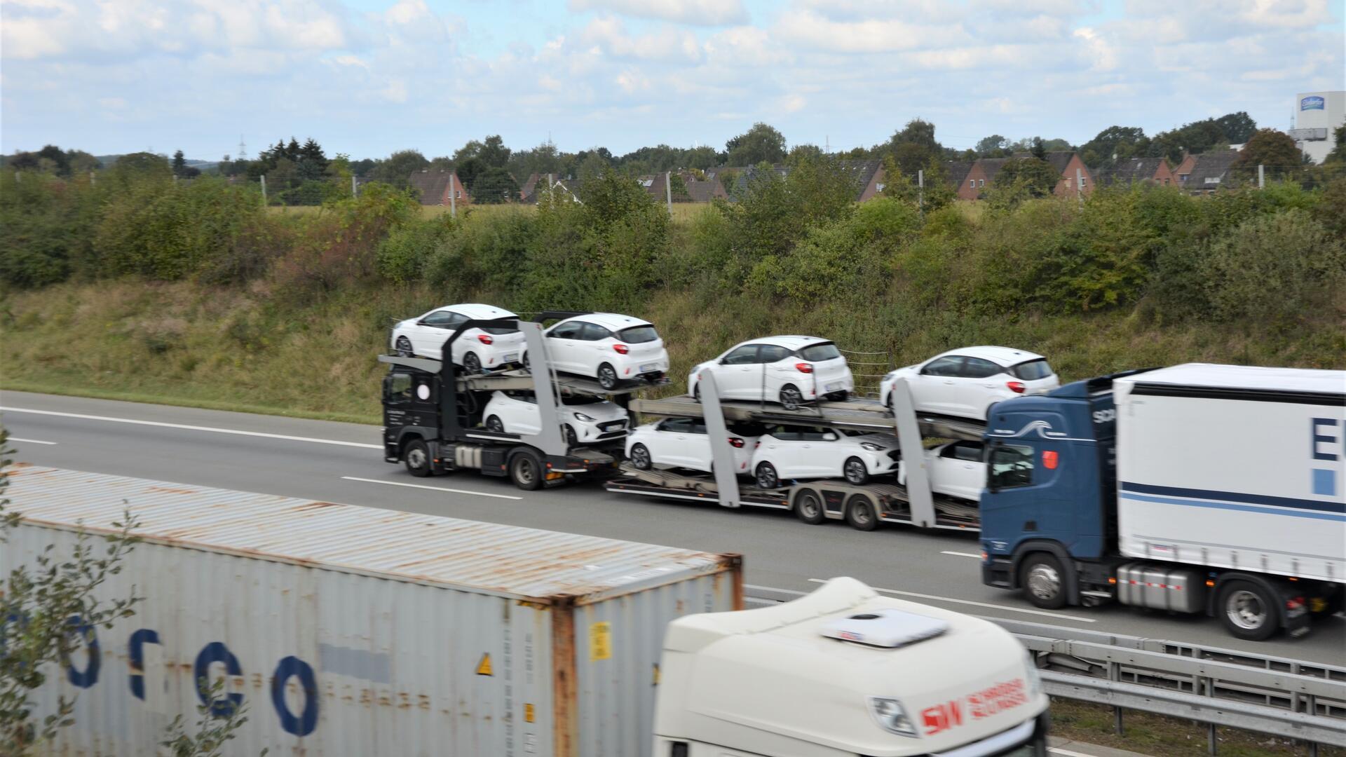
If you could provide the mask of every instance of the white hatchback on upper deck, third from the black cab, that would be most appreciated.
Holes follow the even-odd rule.
[[[765,400],[786,409],[822,396],[844,400],[855,389],[841,352],[818,337],[766,337],[734,345],[692,369],[689,395],[701,396],[700,378],[707,372],[715,374],[720,399]]]

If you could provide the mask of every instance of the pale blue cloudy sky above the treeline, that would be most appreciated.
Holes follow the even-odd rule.
[[[1341,0],[0,0],[0,148],[1082,143],[1346,89]]]

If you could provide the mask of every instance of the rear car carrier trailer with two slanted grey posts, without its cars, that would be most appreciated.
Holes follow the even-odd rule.
[[[725,401],[719,399],[715,376],[701,377],[701,399],[689,396],[630,400],[630,409],[661,418],[700,418],[705,420],[713,475],[670,470],[638,470],[622,465],[621,475],[608,480],[610,492],[643,494],[689,501],[713,501],[725,508],[767,508],[794,512],[808,524],[844,520],[853,528],[872,531],[880,523],[898,523],[919,528],[977,531],[979,508],[953,497],[934,494],[930,489],[922,439],[980,440],[985,424],[973,420],[917,414],[906,381],[894,388],[894,408],[872,400],[818,401],[786,409],[783,407]],[[907,485],[892,482],[851,484],[826,478],[801,481],[778,489],[758,489],[742,484],[734,474],[734,454],[728,445],[727,422],[786,423],[855,431],[896,431],[900,449],[917,450],[907,458]],[[906,457],[906,453],[905,453]]]

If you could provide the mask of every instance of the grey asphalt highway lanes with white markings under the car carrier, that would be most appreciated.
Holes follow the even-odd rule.
[[[384,462],[376,426],[26,392],[0,393],[0,422],[16,458],[34,465],[742,552],[750,597],[787,599],[852,575],[894,597],[970,614],[1346,664],[1341,616],[1306,638],[1248,643],[1206,617],[1121,606],[1046,612],[981,585],[973,533],[810,527],[781,512],[615,494],[594,484],[521,492],[475,471],[413,478]],[[13,505],[22,512],[22,501]]]

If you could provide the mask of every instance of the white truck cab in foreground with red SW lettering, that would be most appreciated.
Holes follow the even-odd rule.
[[[1047,696],[1014,636],[853,578],[684,616],[661,671],[654,757],[1046,754]]]

